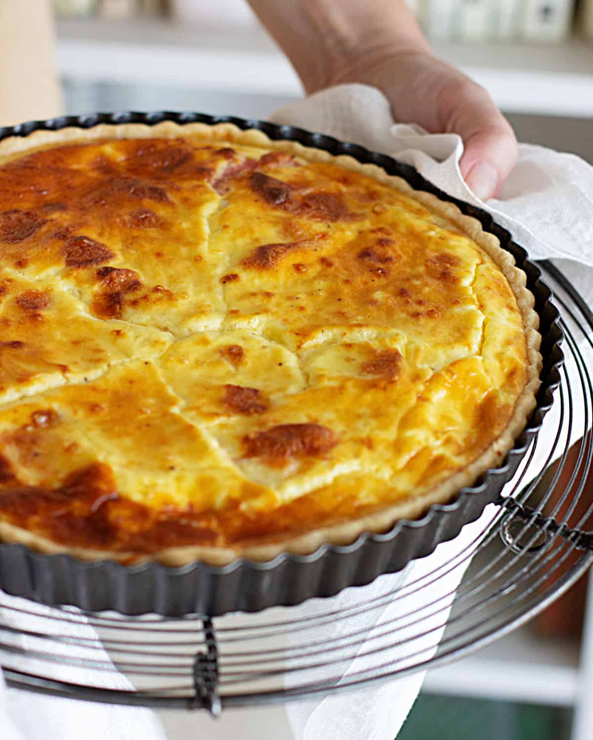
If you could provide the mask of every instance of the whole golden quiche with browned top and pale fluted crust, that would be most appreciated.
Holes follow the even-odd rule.
[[[447,502],[535,408],[526,278],[378,166],[230,124],[0,144],[0,539],[265,560]]]

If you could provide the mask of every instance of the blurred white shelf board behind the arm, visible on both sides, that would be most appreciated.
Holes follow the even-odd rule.
[[[255,23],[222,27],[135,19],[58,21],[58,67],[75,80],[301,95],[284,55]],[[435,44],[440,57],[509,112],[593,118],[593,45]]]

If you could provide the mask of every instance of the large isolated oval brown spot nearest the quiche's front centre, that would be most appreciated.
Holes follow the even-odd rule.
[[[263,457],[267,462],[292,458],[320,457],[338,444],[332,429],[321,424],[280,424],[244,437],[245,457]]]

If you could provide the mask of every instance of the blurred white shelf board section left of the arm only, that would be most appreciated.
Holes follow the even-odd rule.
[[[258,26],[167,21],[58,21],[58,69],[75,80],[301,95],[284,55]]]

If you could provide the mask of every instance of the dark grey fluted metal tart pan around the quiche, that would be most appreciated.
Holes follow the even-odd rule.
[[[557,323],[559,314],[552,303],[552,292],[540,279],[540,270],[488,213],[446,195],[413,167],[357,144],[292,126],[195,112],[118,112],[62,116],[0,127],[0,139],[26,136],[38,129],[124,123],[155,125],[161,121],[232,123],[241,129],[260,129],[272,139],[300,141],[333,155],[350,155],[358,161],[377,164],[390,175],[399,175],[415,189],[432,192],[477,218],[515,257],[517,266],[526,272],[527,286],[535,296],[543,356],[537,406],[505,459],[496,468],[489,468],[475,485],[461,488],[445,505],[432,505],[423,517],[413,521],[402,519],[382,534],[361,534],[351,545],[323,545],[306,556],[283,553],[268,562],[238,558],[224,566],[192,562],[181,568],[170,568],[155,562],[134,566],[107,560],[84,562],[67,555],[38,554],[24,545],[0,544],[0,588],[44,605],[73,605],[89,611],[219,616],[233,611],[256,612],[272,606],[295,605],[314,596],[333,596],[343,588],[366,585],[383,573],[401,571],[413,559],[431,554],[440,542],[454,539],[463,525],[480,517],[484,507],[499,497],[503,485],[513,477],[540,430],[543,417],[552,406],[552,394],[560,384],[563,333]]]

